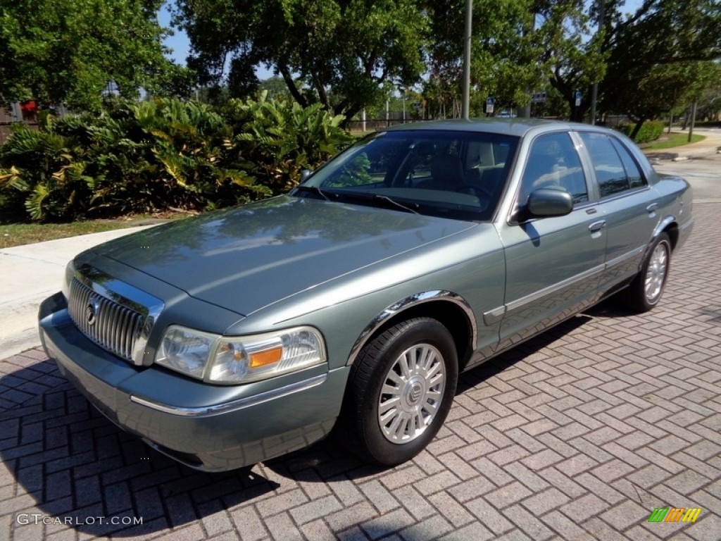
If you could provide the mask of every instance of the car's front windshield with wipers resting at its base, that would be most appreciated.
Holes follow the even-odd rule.
[[[324,164],[291,195],[489,220],[516,146],[518,138],[498,133],[373,133]]]

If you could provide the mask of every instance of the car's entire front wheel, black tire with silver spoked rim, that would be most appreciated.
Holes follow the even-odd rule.
[[[458,356],[440,322],[419,317],[371,340],[350,373],[343,440],[361,459],[394,466],[430,443],[451,409]]]

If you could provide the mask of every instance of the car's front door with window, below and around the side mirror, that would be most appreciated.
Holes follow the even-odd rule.
[[[537,188],[571,193],[567,216],[523,219]],[[603,273],[603,212],[589,201],[576,141],[546,133],[531,142],[516,196],[516,216],[500,224],[506,255],[506,291],[500,347],[510,346],[596,302]]]

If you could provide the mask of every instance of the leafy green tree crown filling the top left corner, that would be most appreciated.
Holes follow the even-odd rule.
[[[179,92],[187,71],[164,56],[162,0],[0,0],[0,100],[93,110],[112,84]]]

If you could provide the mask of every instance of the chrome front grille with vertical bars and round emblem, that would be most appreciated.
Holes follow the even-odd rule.
[[[143,329],[143,315],[98,294],[73,278],[68,312],[76,327],[97,345],[136,363],[136,343]]]

